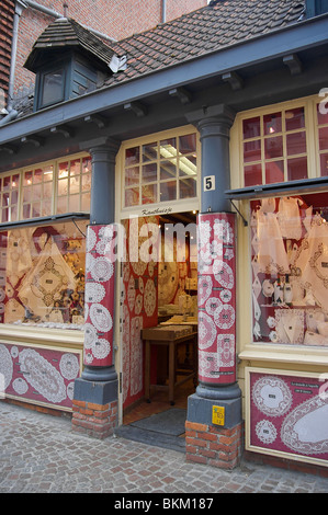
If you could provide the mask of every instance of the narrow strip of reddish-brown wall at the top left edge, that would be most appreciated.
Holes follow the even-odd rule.
[[[7,94],[10,75],[11,41],[13,27],[13,0],[0,0],[0,88]],[[3,95],[0,92],[0,111],[4,107]]]

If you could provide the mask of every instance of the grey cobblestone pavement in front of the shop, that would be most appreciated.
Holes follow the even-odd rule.
[[[233,471],[194,465],[183,453],[121,437],[92,439],[73,433],[68,416],[1,401],[0,446],[0,493],[328,492],[328,478],[249,461]]]

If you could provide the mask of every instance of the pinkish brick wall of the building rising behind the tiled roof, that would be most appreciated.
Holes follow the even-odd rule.
[[[10,0],[0,0],[10,1]],[[64,14],[64,0],[36,0],[38,4]],[[101,33],[122,39],[156,26],[162,20],[162,0],[68,0],[68,16]],[[167,21],[207,4],[207,0],[167,0]],[[32,8],[20,20],[15,91],[34,83],[34,75],[23,68],[33,43],[55,18]]]

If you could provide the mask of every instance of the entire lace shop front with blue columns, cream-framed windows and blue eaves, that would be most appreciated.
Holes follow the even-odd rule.
[[[189,461],[327,465],[327,15],[268,10],[262,32],[173,64],[148,57],[170,24],[132,36],[101,87],[0,121],[8,399],[98,438],[181,409]],[[194,15],[172,22],[192,45]]]

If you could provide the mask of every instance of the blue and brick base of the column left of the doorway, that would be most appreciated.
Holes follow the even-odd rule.
[[[117,379],[75,381],[72,431],[98,439],[112,436],[117,426]]]

